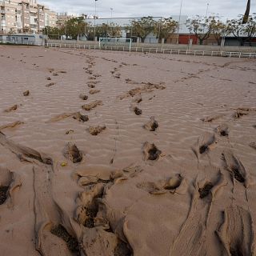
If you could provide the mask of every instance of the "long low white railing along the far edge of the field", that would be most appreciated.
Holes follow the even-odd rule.
[[[2,44],[7,45],[24,45],[24,46],[45,46],[53,48],[67,48],[67,49],[84,49],[84,50],[114,50],[114,51],[130,51],[141,53],[154,53],[154,54],[182,54],[194,56],[218,56],[228,58],[256,58],[256,52],[247,53],[241,51],[216,51],[216,50],[178,50],[178,49],[163,49],[156,47],[127,47],[127,46],[97,46],[97,45],[81,45],[81,44],[68,44],[68,43],[35,43],[35,42],[6,42],[0,41]]]

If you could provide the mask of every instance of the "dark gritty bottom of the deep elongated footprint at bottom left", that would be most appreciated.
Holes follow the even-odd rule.
[[[51,234],[56,235],[58,238],[62,238],[63,241],[66,242],[66,246],[72,253],[79,252],[78,240],[71,236],[65,229],[64,226],[59,224],[58,226],[53,226],[50,230]]]

